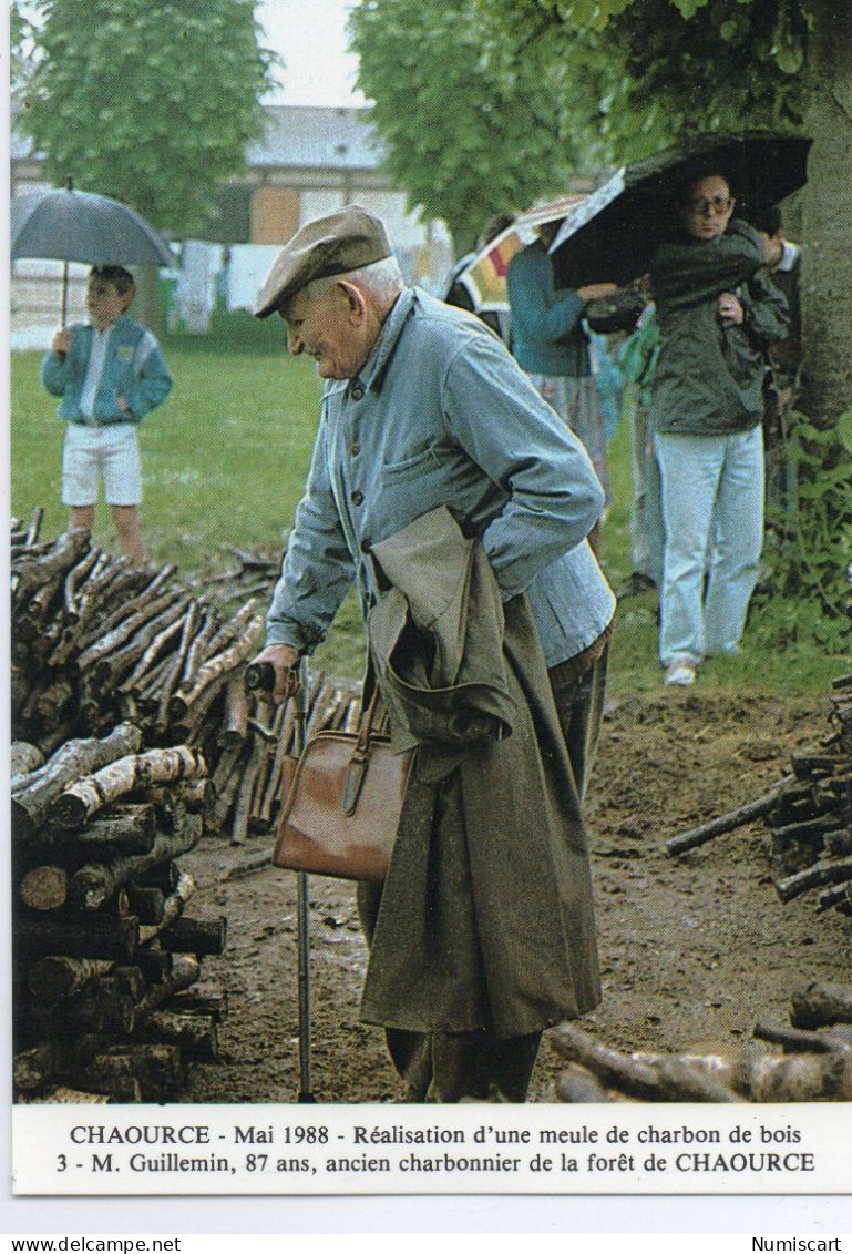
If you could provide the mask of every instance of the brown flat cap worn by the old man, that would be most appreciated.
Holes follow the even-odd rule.
[[[272,263],[254,303],[254,316],[269,317],[314,278],[346,275],[390,256],[385,223],[360,204],[306,222]]]

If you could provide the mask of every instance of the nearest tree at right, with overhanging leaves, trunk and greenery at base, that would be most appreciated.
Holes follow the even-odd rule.
[[[761,612],[778,642],[848,646],[852,522],[852,5],[847,0],[479,0],[515,38],[620,60],[613,154],[645,155],[668,130],[771,127],[813,140],[801,194],[804,395],[793,415],[799,508]],[[781,598],[773,593],[781,593]],[[791,598],[797,598],[794,612]]]

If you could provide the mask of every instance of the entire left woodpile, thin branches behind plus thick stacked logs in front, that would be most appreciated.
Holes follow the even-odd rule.
[[[193,592],[40,523],[11,534],[15,1093],[165,1101],[218,1058],[227,1009],[200,978],[227,920],[184,913],[179,859],[272,829],[293,706],[247,693],[263,619],[244,579]],[[308,731],[358,717],[353,690],[309,680]]]

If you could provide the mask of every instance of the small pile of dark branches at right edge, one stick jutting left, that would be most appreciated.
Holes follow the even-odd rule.
[[[791,770],[763,796],[667,843],[685,853],[763,819],[782,902],[818,892],[818,909],[852,917],[852,676],[836,680],[829,729],[819,746],[793,754]]]

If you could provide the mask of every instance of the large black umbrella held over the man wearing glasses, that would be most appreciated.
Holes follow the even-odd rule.
[[[809,147],[771,132],[695,135],[624,166],[563,221],[550,248],[556,282],[628,283],[644,275],[674,228],[675,194],[693,176],[723,174],[739,217],[748,218],[749,204],[777,204],[807,182]]]

